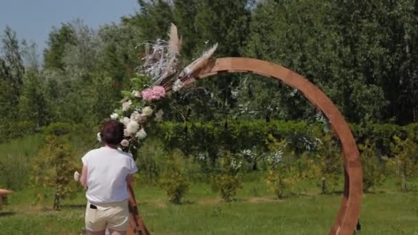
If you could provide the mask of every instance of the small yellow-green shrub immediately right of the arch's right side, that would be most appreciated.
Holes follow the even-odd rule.
[[[369,192],[374,186],[380,186],[384,182],[385,176],[382,165],[375,152],[375,144],[366,139],[364,144],[358,146],[363,168],[363,191]]]

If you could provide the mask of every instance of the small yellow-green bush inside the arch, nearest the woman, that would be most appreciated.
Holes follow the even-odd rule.
[[[183,157],[179,152],[171,153],[159,179],[159,186],[166,190],[170,203],[174,204],[181,204],[190,185],[184,169]]]

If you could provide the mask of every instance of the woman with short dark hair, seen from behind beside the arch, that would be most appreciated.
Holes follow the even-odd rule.
[[[124,235],[129,227],[128,190],[137,166],[132,156],[118,150],[124,125],[106,122],[100,132],[105,146],[89,151],[83,158],[80,183],[87,187],[85,223],[89,234]]]

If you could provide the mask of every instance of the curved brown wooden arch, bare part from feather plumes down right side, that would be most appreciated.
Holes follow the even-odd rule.
[[[318,87],[303,76],[281,65],[252,58],[218,58],[209,60],[195,78],[206,78],[220,73],[250,72],[274,78],[298,89],[328,118],[333,133],[341,141],[344,165],[344,194],[341,208],[329,234],[353,234],[360,215],[363,194],[362,164],[353,134],[336,105]]]

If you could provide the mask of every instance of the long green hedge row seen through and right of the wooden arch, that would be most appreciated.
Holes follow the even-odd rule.
[[[267,149],[269,135],[286,139],[296,152],[314,146],[327,135],[322,124],[286,122],[281,120],[228,120],[226,122],[160,122],[153,124],[152,135],[164,138],[166,148],[180,148],[184,153],[207,151],[216,154],[219,148],[232,152],[257,146]],[[418,124],[351,124],[355,140],[363,144],[366,139],[375,143],[382,155],[391,155],[393,137],[412,138],[418,142]]]

